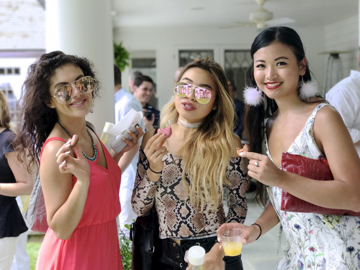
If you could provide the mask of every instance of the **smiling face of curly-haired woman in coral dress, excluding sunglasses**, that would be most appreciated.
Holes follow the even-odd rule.
[[[53,76],[51,76],[49,90],[51,99],[48,106],[56,109],[59,118],[62,114],[73,117],[84,117],[87,113],[89,113],[91,102],[93,101],[92,94],[80,91],[75,86],[75,83],[73,83],[82,77],[84,77],[84,73],[81,68],[73,64],[65,64],[64,66],[59,67],[55,70]],[[59,103],[53,96],[56,89],[67,84],[71,84],[73,86],[73,92],[70,101],[62,104]]]

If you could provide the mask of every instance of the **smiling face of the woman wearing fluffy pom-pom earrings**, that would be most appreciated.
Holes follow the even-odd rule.
[[[291,48],[274,41],[254,54],[254,78],[271,99],[297,95],[299,75],[305,73],[306,58],[299,64]]]

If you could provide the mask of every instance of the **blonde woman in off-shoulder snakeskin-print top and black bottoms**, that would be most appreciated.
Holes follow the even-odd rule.
[[[131,202],[138,216],[156,206],[162,251],[157,266],[185,269],[184,253],[197,244],[207,252],[204,269],[224,269],[224,261],[227,270],[242,269],[241,257],[224,258],[216,243],[217,228],[243,223],[247,211],[246,161],[236,151],[242,144],[233,134],[234,109],[221,66],[210,58],[186,65],[160,120],[171,136],[145,133]]]

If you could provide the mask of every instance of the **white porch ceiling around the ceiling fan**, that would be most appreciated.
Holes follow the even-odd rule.
[[[289,27],[324,26],[359,14],[358,0],[267,0],[274,19]],[[255,0],[112,0],[114,27],[235,26],[248,22]]]

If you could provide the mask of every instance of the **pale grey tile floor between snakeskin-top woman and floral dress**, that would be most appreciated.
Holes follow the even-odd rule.
[[[253,193],[247,193],[248,212],[245,219],[245,225],[253,224],[261,215],[263,209],[252,199]],[[226,204],[224,203],[224,206]],[[225,209],[226,211],[227,209]],[[278,250],[279,226],[262,235],[256,242],[243,246],[242,261],[244,270],[276,270],[280,260],[283,257],[283,251],[286,247],[285,239],[282,237],[282,245]]]

